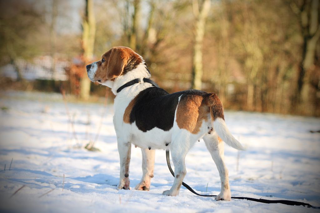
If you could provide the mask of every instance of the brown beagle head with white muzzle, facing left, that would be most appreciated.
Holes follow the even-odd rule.
[[[86,68],[91,81],[105,84],[108,80],[114,81],[116,77],[125,75],[141,62],[142,58],[129,47],[113,47],[101,56],[101,60]]]

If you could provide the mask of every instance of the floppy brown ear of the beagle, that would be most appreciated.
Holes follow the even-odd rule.
[[[107,79],[111,80],[121,75],[127,65],[130,53],[123,48],[113,48],[108,59]]]

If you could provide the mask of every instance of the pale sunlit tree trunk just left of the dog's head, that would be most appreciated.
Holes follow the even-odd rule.
[[[82,48],[85,65],[93,58],[94,38],[96,32],[96,22],[93,11],[93,0],[86,0],[85,15],[83,20]],[[90,95],[91,81],[87,76],[85,66],[80,80],[80,98],[87,100]]]

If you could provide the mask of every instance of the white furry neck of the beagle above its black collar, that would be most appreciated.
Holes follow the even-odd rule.
[[[125,83],[132,81],[136,78],[140,78],[141,82],[143,82],[142,80],[143,78],[150,78],[150,77],[151,77],[151,74],[148,71],[146,63],[142,59],[141,63],[136,68],[128,71],[125,75],[120,75],[116,77],[114,81],[108,80],[102,84],[110,87],[113,94],[117,95],[118,94],[117,90]]]

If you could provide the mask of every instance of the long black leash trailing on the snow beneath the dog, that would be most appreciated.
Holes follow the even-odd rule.
[[[174,177],[174,172],[171,168],[171,164],[170,164],[170,153],[169,150],[166,151],[166,157],[167,157],[167,164],[168,164],[168,168],[171,172],[171,174]],[[203,197],[216,197],[217,195],[205,195],[205,194],[198,194],[196,193],[189,185],[187,185],[186,183],[182,182],[182,185],[184,187],[186,187],[190,192],[199,195],[199,196],[203,196]],[[309,203],[303,203],[303,202],[298,202],[298,201],[287,201],[287,200],[266,200],[266,199],[256,199],[256,198],[250,198],[250,197],[231,197],[232,199],[242,199],[242,200],[248,200],[248,201],[256,201],[256,202],[260,202],[260,203],[282,203],[285,205],[291,205],[291,206],[306,206],[308,208],[314,208],[314,209],[320,209],[320,207],[316,207],[316,206],[312,206]]]

